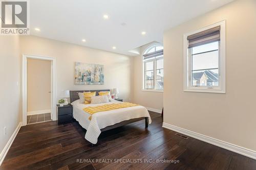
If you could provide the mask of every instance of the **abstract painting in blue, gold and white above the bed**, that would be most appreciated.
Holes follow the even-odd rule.
[[[75,85],[104,84],[104,65],[75,62]]]

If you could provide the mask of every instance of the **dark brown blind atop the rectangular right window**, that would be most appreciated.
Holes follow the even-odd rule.
[[[192,48],[195,46],[220,41],[220,30],[221,27],[215,27],[209,30],[202,31],[197,34],[193,34],[187,37],[188,40],[188,48]]]

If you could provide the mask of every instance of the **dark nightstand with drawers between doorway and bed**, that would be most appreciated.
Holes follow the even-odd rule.
[[[71,104],[65,106],[57,105],[58,124],[71,123],[73,121],[73,106]]]

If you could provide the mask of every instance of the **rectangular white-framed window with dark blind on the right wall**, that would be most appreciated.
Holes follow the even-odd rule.
[[[184,91],[225,93],[225,21],[184,35]]]

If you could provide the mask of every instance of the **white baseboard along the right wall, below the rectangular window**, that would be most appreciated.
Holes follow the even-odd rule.
[[[212,138],[212,137],[209,137],[209,136],[205,136],[205,135],[202,135],[202,134],[197,133],[197,132],[193,132],[193,131],[189,131],[189,130],[186,130],[186,129],[183,129],[183,128],[179,128],[179,127],[174,126],[174,125],[169,125],[169,124],[166,124],[166,123],[163,123],[163,128],[170,129],[170,130],[182,133],[184,135],[187,135],[187,136],[205,141],[207,143],[214,144],[217,147],[224,148],[224,149],[232,151],[232,152],[236,152],[238,154],[247,156],[247,157],[252,158],[252,159],[256,159],[256,151],[253,151],[253,150],[250,150],[250,149],[247,149],[247,148],[243,148],[243,147],[240,147],[238,145],[228,143],[228,142],[225,142],[225,141],[222,141],[222,140],[219,140],[219,139],[215,139],[215,138]]]

